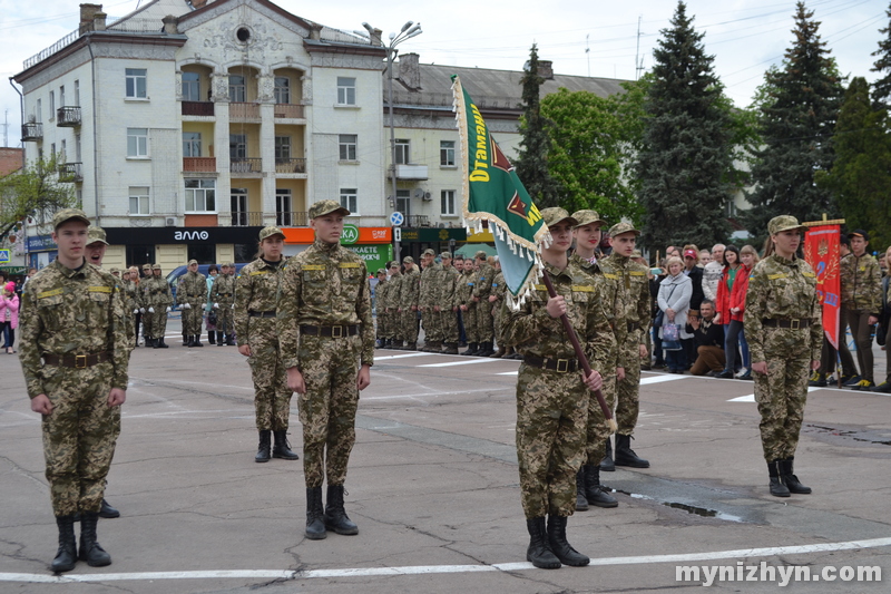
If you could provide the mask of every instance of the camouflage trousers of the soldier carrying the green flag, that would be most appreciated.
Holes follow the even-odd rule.
[[[520,366],[517,459],[527,518],[571,516],[585,459],[588,389],[579,373]]]

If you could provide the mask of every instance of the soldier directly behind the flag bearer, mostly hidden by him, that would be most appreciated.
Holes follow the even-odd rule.
[[[615,279],[608,279],[597,259],[597,247],[600,245],[600,227],[606,221],[600,218],[596,211],[577,211],[572,213],[578,224],[572,230],[576,240],[576,251],[570,261],[578,265],[589,277],[594,288],[593,298],[603,304],[604,318],[597,320],[597,335],[594,340],[595,357],[591,361],[594,369],[599,369],[604,377],[601,392],[604,399],[613,410],[616,403],[616,379],[618,373],[618,343],[613,330],[616,311],[617,286]],[[621,370],[621,378],[625,370]],[[576,509],[585,510],[588,505],[597,507],[618,507],[618,500],[606,493],[600,485],[600,460],[606,455],[606,445],[609,441],[609,425],[596,398],[588,405],[588,428],[585,464],[576,476]]]

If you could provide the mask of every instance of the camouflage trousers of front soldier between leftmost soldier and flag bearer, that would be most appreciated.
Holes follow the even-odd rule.
[[[413,313],[413,312],[412,312]],[[303,474],[307,488],[343,485],[355,444],[361,338],[300,338],[306,393],[298,395]],[[327,451],[325,451],[327,449]]]

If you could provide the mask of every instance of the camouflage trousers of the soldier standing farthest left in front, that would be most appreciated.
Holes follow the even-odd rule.
[[[108,406],[111,362],[42,370],[52,412],[42,418],[43,458],[52,512],[98,512],[120,435],[120,407]]]

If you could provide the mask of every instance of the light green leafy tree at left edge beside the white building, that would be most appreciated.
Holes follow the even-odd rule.
[[[0,178],[0,241],[28,217],[46,223],[56,211],[75,205],[74,187],[58,172],[53,155]]]

